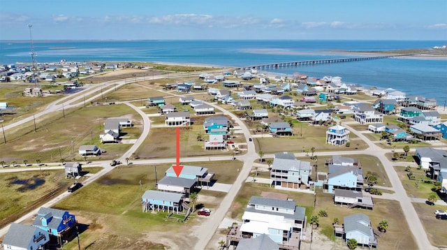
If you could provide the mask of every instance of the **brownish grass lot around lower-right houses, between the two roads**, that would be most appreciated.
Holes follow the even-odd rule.
[[[387,232],[379,237],[379,249],[416,249],[416,242],[411,237],[409,226],[406,223],[400,204],[395,200],[374,199],[374,209],[348,209],[346,206],[334,205],[332,194],[317,191],[314,206],[314,195],[293,191],[282,191],[272,189],[268,184],[246,183],[237,194],[233,205],[230,207],[228,216],[240,220],[251,196],[261,196],[263,191],[274,193],[285,193],[288,198],[297,202],[298,206],[306,208],[307,219],[317,215],[321,209],[328,212],[328,217],[320,217],[319,229],[329,240],[335,240],[332,222],[334,218],[343,223],[344,216],[363,213],[369,216],[372,226],[376,227],[382,219],[386,219],[390,225]]]

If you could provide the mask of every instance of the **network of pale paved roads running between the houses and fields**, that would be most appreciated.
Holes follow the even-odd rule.
[[[179,74],[172,75],[172,76],[173,77],[179,76]],[[160,76],[160,78],[161,78],[161,76]],[[163,76],[163,78],[166,78],[166,76]],[[137,81],[141,81],[141,80],[145,80],[145,78],[135,78],[132,82],[137,82]],[[64,98],[59,99],[58,101],[50,103],[50,105],[48,105],[47,108],[43,112],[34,114],[34,117],[41,117],[42,115],[45,115],[47,113],[54,112],[57,110],[62,110],[63,108],[72,108],[75,106],[83,105],[83,103],[84,103],[83,98],[85,95],[89,95],[89,94],[93,93],[94,91],[98,91],[98,89],[101,89],[101,88],[103,89],[103,94],[107,94],[108,92],[113,91],[115,89],[115,84],[116,84],[116,87],[121,87],[123,84],[126,84],[126,83],[127,83],[126,80],[110,81],[110,82],[105,82],[103,84],[97,84],[95,87],[87,87],[87,89],[80,91],[77,94],[66,96]],[[178,96],[176,94],[171,94],[171,93],[167,93],[167,94],[170,94],[173,96]],[[90,98],[86,99],[85,101],[90,102],[100,96],[101,96],[101,94],[96,94],[95,96],[91,96]],[[82,101],[81,101],[81,99],[82,99]],[[133,152],[135,152],[135,150],[138,149],[138,147],[140,147],[141,143],[145,140],[145,138],[149,134],[149,128],[150,128],[149,117],[144,112],[142,112],[138,107],[135,107],[135,105],[132,105],[131,103],[128,103],[128,102],[123,102],[123,103],[125,103],[126,105],[129,105],[131,108],[136,110],[141,115],[141,117],[143,119],[143,131],[142,131],[142,135],[140,136],[140,138],[138,138],[138,140],[131,147],[131,149],[129,149],[126,153],[124,153],[121,156],[121,158],[119,159],[120,161],[124,161],[124,159],[126,159],[127,157],[130,157],[131,154]],[[214,106],[214,108],[216,108],[218,110],[221,110],[221,112],[223,112],[223,114],[232,117],[232,119],[234,119],[237,122],[237,124],[240,126],[240,128],[242,129],[246,139],[251,137],[249,129],[247,128],[247,126],[244,126],[244,123],[239,119],[239,117],[236,117],[233,113],[228,112],[227,110],[224,110],[223,108],[220,108],[217,105],[214,105],[212,103],[208,103],[208,104]],[[32,119],[34,119],[34,117],[30,116],[30,117],[24,118],[18,122],[13,123],[13,124],[4,126],[4,129],[8,130],[15,126],[19,126],[20,124],[24,124],[25,122],[30,122]],[[388,159],[385,156],[385,154],[390,151],[387,149],[381,149],[380,147],[377,147],[376,144],[374,142],[371,142],[370,140],[368,140],[365,137],[365,135],[362,135],[362,133],[360,133],[356,130],[353,130],[347,124],[349,124],[349,123],[344,123],[343,126],[346,126],[346,128],[348,128],[352,133],[355,133],[356,135],[358,135],[358,137],[360,139],[364,140],[367,143],[367,145],[369,146],[369,148],[365,149],[365,150],[354,150],[354,151],[350,151],[350,152],[346,152],[346,151],[318,152],[317,153],[318,156],[332,156],[334,154],[339,154],[339,155],[370,154],[370,155],[376,156],[381,161],[383,166],[385,167],[388,178],[390,179],[390,182],[393,184],[393,190],[395,191],[394,196],[397,197],[397,200],[400,202],[400,205],[402,206],[404,216],[406,218],[406,221],[408,221],[408,223],[409,223],[411,233],[413,233],[416,243],[418,244],[418,248],[419,249],[434,249],[434,247],[428,241],[427,234],[425,233],[425,230],[423,229],[422,223],[420,223],[420,220],[418,219],[416,210],[414,209],[413,205],[411,205],[411,199],[408,196],[406,196],[406,192],[402,186],[402,183],[400,182],[400,179],[397,176],[397,173],[395,172],[395,170],[393,168],[393,163],[388,161]],[[219,208],[213,212],[213,215],[210,217],[210,219],[208,219],[202,223],[200,230],[194,232],[194,235],[198,238],[198,242],[196,243],[196,246],[194,247],[194,249],[205,249],[207,244],[210,242],[210,240],[212,239],[212,236],[214,235],[215,231],[217,230],[217,228],[219,226],[219,223],[221,223],[221,221],[223,220],[223,218],[226,215],[226,212],[228,212],[230,205],[233,203],[233,200],[234,200],[235,196],[237,195],[237,192],[240,190],[240,188],[242,187],[242,184],[244,184],[245,180],[249,176],[249,173],[251,171],[251,167],[252,167],[254,161],[256,159],[258,159],[258,154],[255,151],[256,149],[254,147],[254,143],[249,142],[247,140],[247,145],[248,145],[247,153],[242,156],[237,156],[237,160],[244,161],[242,170],[240,170],[240,175],[237,177],[233,186],[231,186],[227,195],[223,198],[221,204],[219,205]],[[268,155],[265,155],[264,158],[271,158],[272,156],[273,156],[272,154],[268,154]],[[297,154],[295,154],[295,156],[305,156],[305,153],[297,153]],[[189,157],[189,158],[182,159],[182,162],[221,161],[221,160],[228,160],[228,159],[231,159],[231,156],[198,156],[198,157]],[[112,170],[113,168],[110,167],[108,163],[109,163],[109,161],[101,161],[101,162],[92,163],[92,165],[99,164],[99,165],[103,166],[103,170],[101,170],[100,172],[96,173],[95,175],[89,177],[89,179],[87,179],[84,184],[89,184],[91,182],[94,182],[96,179],[98,179],[99,177],[105,175],[107,172]],[[133,163],[135,163],[135,164],[175,163],[175,159],[138,160],[138,161],[133,161]],[[50,167],[50,168],[54,168],[54,167]],[[21,168],[20,170],[25,170],[25,169]],[[36,170],[36,168],[34,168],[34,170]],[[3,171],[6,171],[6,170],[0,170],[0,172],[3,172]],[[13,171],[13,170],[11,170],[11,171]],[[55,203],[59,202],[59,200],[66,198],[68,195],[69,195],[68,192],[62,193],[60,196],[57,196],[57,198],[50,200],[48,203],[45,203],[45,205],[43,205],[43,206],[50,207],[50,206],[54,205]],[[21,221],[24,221],[25,219],[29,218],[30,216],[33,216],[34,214],[36,214],[37,210],[38,209],[35,209],[34,211],[29,212],[29,214],[22,216],[22,218],[17,219],[17,221],[15,221],[15,222],[19,223]],[[8,230],[8,227],[1,228],[0,229],[0,237],[2,235],[4,235],[7,232],[7,230]]]

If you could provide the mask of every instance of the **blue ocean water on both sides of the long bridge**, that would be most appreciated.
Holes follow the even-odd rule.
[[[339,50],[431,48],[447,41],[34,41],[38,63],[60,61],[159,61],[214,66],[252,66],[285,61],[353,57]],[[31,62],[29,41],[0,41],[0,64]],[[447,101],[447,60],[406,57],[270,69]]]

